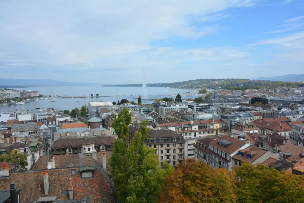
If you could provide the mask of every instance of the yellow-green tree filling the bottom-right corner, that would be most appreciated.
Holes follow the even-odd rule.
[[[239,202],[304,202],[303,176],[248,163],[236,167],[234,174]]]

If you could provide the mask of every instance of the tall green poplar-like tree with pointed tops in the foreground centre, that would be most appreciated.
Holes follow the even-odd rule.
[[[123,108],[118,117],[113,116],[112,127],[118,136],[110,158],[114,193],[119,202],[152,202],[161,191],[164,175],[172,172],[172,168],[167,165],[166,170],[162,170],[155,149],[144,145],[149,131],[147,121],[140,123],[139,130],[129,140],[131,115]]]

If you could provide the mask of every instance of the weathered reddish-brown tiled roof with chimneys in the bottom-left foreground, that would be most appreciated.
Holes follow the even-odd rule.
[[[94,167],[94,177],[82,179],[80,175],[81,167],[49,169],[49,197],[56,196],[57,199],[69,199],[69,178],[71,178],[74,199],[83,199],[90,195],[93,202],[114,202],[114,198],[109,196],[110,183],[107,172],[98,166]],[[71,175],[71,170],[76,170],[75,175]],[[9,178],[0,179],[0,190],[9,190],[10,183],[15,183],[16,189],[20,189],[20,200],[22,203],[32,203],[38,198],[44,197],[43,170],[12,172]],[[67,191],[67,195],[63,194]]]

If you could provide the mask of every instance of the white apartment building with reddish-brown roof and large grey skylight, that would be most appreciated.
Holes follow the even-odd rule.
[[[249,146],[250,143],[245,143],[228,135],[218,138],[209,144],[208,164],[212,168],[223,167],[231,170],[233,166],[232,157],[239,150],[246,149]]]

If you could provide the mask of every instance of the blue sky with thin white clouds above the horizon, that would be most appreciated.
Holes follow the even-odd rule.
[[[102,84],[304,74],[304,0],[1,0],[0,78]]]

